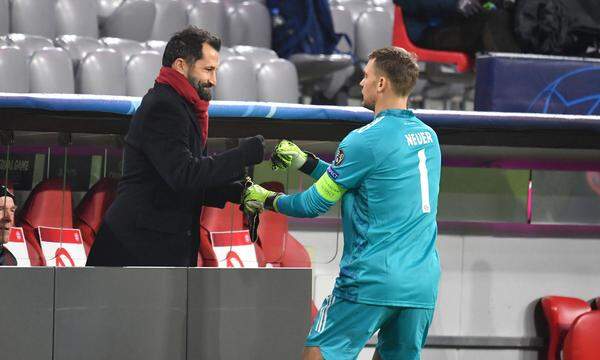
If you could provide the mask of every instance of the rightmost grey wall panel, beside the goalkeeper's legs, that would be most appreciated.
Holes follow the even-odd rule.
[[[310,269],[190,269],[188,285],[188,359],[300,358]]]

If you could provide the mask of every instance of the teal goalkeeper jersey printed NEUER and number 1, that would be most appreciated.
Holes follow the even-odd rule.
[[[344,253],[333,294],[350,301],[433,308],[441,153],[410,110],[386,110],[340,143],[327,174],[342,197]]]

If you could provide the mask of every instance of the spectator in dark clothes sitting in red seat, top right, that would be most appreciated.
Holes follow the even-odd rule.
[[[411,40],[434,50],[520,52],[509,0],[394,0]]]

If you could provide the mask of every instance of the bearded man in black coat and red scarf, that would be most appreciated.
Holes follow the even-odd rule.
[[[88,266],[195,266],[202,206],[240,202],[245,166],[263,160],[260,135],[207,156],[208,101],[219,38],[189,27],[167,43],[163,67],[125,137],[118,194]]]

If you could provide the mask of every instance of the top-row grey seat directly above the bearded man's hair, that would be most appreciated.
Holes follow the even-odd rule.
[[[224,45],[229,45],[225,34],[227,18],[225,6],[220,1],[199,1],[188,9],[188,23],[210,31],[221,37]]]

